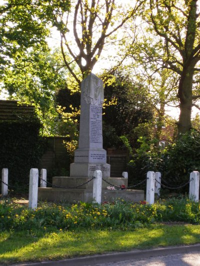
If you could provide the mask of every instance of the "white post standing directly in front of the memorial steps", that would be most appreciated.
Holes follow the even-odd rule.
[[[102,172],[100,170],[94,171],[93,179],[93,203],[101,203],[101,185],[102,185]]]

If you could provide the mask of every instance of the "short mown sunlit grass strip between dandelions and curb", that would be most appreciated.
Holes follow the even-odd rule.
[[[134,230],[0,233],[0,264],[66,259],[106,252],[200,243],[200,225],[151,224]]]

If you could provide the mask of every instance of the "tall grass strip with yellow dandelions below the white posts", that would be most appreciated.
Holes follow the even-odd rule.
[[[80,202],[73,205],[42,204],[35,211],[9,201],[0,205],[0,231],[54,229],[134,229],[155,222],[200,223],[200,205],[186,198],[158,201],[152,205],[123,200],[101,205]]]

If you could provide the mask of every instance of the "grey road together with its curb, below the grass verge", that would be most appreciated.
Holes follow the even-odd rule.
[[[200,266],[200,244],[108,253],[12,266]]]

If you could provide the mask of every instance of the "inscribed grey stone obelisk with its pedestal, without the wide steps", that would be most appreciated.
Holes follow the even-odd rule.
[[[102,177],[110,177],[110,165],[106,164],[102,148],[103,81],[89,74],[82,80],[80,91],[79,141],[70,177],[92,177],[95,170],[101,170]]]

